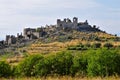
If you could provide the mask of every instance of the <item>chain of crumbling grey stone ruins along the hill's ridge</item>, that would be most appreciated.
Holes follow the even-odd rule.
[[[75,29],[78,31],[98,31],[96,27],[91,27],[88,24],[87,20],[85,22],[78,22],[78,18],[74,17],[71,21],[69,18],[65,18],[63,21],[57,19],[56,25],[46,25],[45,27],[40,28],[25,28],[23,30],[23,35],[17,34],[17,37],[13,35],[6,35],[5,41],[0,41],[0,45],[10,45],[16,44],[18,41],[24,40],[32,40],[32,39],[39,39],[45,37],[47,34],[50,34],[50,31],[59,31],[64,30],[65,28]]]

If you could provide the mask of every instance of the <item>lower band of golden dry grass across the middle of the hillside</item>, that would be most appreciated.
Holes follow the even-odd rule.
[[[67,49],[67,47],[69,46],[74,46],[77,44],[93,44],[93,43],[97,43],[98,41],[82,41],[80,39],[75,39],[75,40],[71,40],[68,42],[53,42],[53,43],[47,43],[47,44],[32,44],[31,46],[29,46],[27,48],[27,52],[29,54],[36,54],[36,53],[43,53],[43,54],[48,54],[48,53],[57,53],[60,51],[64,51]],[[119,46],[120,42],[111,42],[111,41],[107,41],[109,43],[112,43],[114,46]],[[102,44],[102,46],[107,43],[107,42],[99,42]]]

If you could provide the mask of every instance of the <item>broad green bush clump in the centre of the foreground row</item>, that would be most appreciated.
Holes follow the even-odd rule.
[[[67,52],[57,53],[39,61],[36,65],[38,76],[47,76],[49,74],[68,75],[73,64],[73,56]]]

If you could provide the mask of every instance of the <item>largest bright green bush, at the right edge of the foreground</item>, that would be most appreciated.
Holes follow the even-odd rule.
[[[116,51],[96,50],[89,53],[89,76],[111,76],[120,73],[120,55]]]

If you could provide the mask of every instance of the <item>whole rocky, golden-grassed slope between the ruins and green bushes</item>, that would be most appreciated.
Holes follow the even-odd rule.
[[[7,59],[7,62],[16,65],[16,63],[30,54],[57,53],[68,50],[71,46],[79,44],[93,45],[94,43],[100,43],[102,46],[105,43],[111,43],[116,47],[120,45],[120,38],[105,32],[60,31],[57,35],[51,34],[44,39],[34,39],[22,47],[13,46],[11,49],[7,48],[4,50],[4,52],[7,51],[5,52],[7,56],[1,56],[2,59],[0,60]],[[78,47],[77,49],[79,50],[80,48]]]

